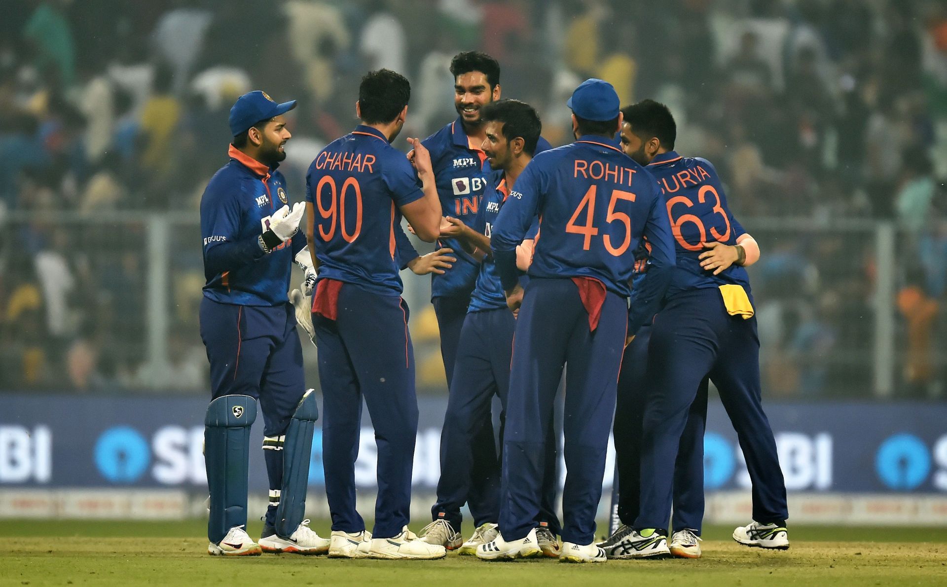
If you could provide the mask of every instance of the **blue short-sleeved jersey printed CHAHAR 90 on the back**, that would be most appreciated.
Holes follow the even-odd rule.
[[[319,279],[401,295],[398,271],[410,259],[399,255],[406,241],[399,208],[423,195],[407,157],[377,129],[359,125],[332,141],[306,176],[306,201],[315,212]]]

